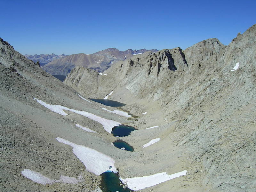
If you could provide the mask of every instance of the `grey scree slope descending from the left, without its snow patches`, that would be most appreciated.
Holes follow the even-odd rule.
[[[78,192],[98,188],[100,176],[87,171],[84,164],[73,154],[72,148],[58,142],[55,139],[57,137],[110,156],[113,154],[116,163],[119,162],[118,159],[122,162],[123,159],[130,158],[129,154],[120,154],[120,149],[113,149],[113,138],[100,123],[73,112],[62,116],[45,108],[33,98],[115,121],[127,122],[127,118],[106,113],[99,108],[102,105],[82,100],[74,90],[16,52],[3,39],[0,39],[0,82],[0,191]],[[75,124],[90,127],[101,136],[85,132]],[[66,178],[66,183],[36,183],[21,174],[27,169],[52,180],[59,180],[64,175],[62,178],[64,181]],[[67,183],[70,182],[69,177],[82,179],[78,184]]]

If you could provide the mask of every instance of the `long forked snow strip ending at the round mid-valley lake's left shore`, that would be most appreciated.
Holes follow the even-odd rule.
[[[79,115],[88,117],[88,118],[90,118],[90,119],[92,119],[94,121],[97,121],[97,122],[99,122],[100,124],[103,125],[103,128],[108,133],[111,133],[113,127],[121,124],[121,123],[119,123],[117,121],[108,120],[108,119],[105,119],[103,117],[96,116],[96,115],[94,115],[92,113],[88,113],[88,112],[85,112],[85,111],[79,111],[79,110],[75,110],[75,109],[70,109],[70,108],[67,108],[67,107],[64,107],[64,106],[61,106],[61,105],[49,105],[49,104],[45,103],[44,101],[38,100],[36,98],[34,98],[34,100],[36,100],[38,103],[40,103],[44,107],[52,110],[53,112],[59,113],[60,115],[63,115],[63,116],[68,115],[66,112],[63,111],[63,110],[67,110],[67,111],[71,111],[71,112],[77,113]]]

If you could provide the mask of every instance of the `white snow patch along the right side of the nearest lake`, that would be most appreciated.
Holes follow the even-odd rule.
[[[162,173],[156,173],[154,175],[144,176],[144,177],[133,177],[133,178],[126,178],[120,180],[130,189],[132,190],[141,190],[147,187],[151,187],[154,185],[157,185],[159,183],[162,183],[164,181],[168,181],[171,179],[174,179],[176,177],[180,177],[182,175],[186,175],[187,170],[174,173],[171,175],[168,175],[167,172]]]

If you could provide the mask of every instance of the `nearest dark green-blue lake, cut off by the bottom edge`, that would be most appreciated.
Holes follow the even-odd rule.
[[[131,189],[124,186],[124,183],[119,179],[117,173],[104,172],[101,175],[100,189],[103,192],[132,192]]]

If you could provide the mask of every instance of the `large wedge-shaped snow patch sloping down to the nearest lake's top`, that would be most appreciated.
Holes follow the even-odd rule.
[[[84,147],[82,145],[77,145],[60,137],[57,137],[56,139],[60,143],[64,143],[73,147],[73,153],[84,164],[86,170],[96,175],[100,175],[101,173],[104,173],[108,170],[112,172],[117,172],[115,167],[115,160],[111,157],[100,153],[95,149]]]

